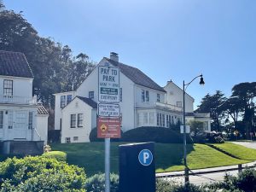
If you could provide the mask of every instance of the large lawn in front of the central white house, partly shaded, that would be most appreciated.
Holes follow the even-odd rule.
[[[122,143],[111,143],[111,172],[118,173],[118,146]],[[88,176],[104,172],[104,143],[65,143],[52,144],[53,150],[67,153],[69,164],[84,167]],[[230,166],[246,163],[210,148],[204,144],[189,144],[188,165],[191,169],[214,166]],[[155,143],[156,172],[183,170],[183,144]]]

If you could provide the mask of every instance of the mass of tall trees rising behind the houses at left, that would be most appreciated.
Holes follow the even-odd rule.
[[[76,89],[94,67],[84,53],[74,57],[72,49],[52,38],[41,38],[22,12],[4,9],[0,2],[0,49],[26,55],[38,100],[48,108],[54,107],[53,94]]]

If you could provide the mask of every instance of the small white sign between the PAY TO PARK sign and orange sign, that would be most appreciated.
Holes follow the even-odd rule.
[[[120,107],[119,104],[98,104],[98,115],[101,117],[119,117]]]

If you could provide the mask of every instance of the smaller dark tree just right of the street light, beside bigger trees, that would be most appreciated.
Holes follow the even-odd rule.
[[[217,90],[214,95],[207,94],[207,96],[202,98],[201,105],[196,109],[198,113],[210,113],[212,130],[220,131],[221,120],[224,118],[224,108],[222,105],[225,101],[224,94]]]

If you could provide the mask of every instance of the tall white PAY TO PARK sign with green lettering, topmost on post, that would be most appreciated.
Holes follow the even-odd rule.
[[[99,102],[119,102],[119,67],[99,66]]]

